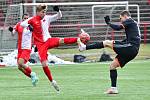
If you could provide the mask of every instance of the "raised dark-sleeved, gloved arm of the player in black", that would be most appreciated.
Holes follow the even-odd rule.
[[[107,24],[107,25],[109,25],[112,29],[114,29],[114,30],[121,30],[121,29],[123,29],[124,27],[123,27],[123,25],[116,25],[116,24],[112,24],[111,22],[110,22],[110,17],[109,16],[105,16],[104,17],[104,19],[105,19],[105,23]]]

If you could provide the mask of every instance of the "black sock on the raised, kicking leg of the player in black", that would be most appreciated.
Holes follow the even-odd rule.
[[[103,42],[95,42],[89,45],[86,45],[86,50],[88,49],[100,49],[104,48]]]

